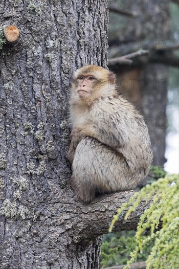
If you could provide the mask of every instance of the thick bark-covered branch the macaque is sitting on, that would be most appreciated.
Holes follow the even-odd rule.
[[[80,212],[81,222],[79,219],[75,224],[76,229],[73,231],[75,242],[87,243],[96,237],[109,233],[109,227],[113,215],[123,202],[128,202],[134,191],[116,192],[113,194],[103,195],[96,198],[90,204],[84,205],[82,202],[73,202],[75,211]],[[74,200],[74,198],[73,198]],[[79,200],[78,200],[79,201]],[[150,201],[145,204],[141,202],[136,211],[134,211],[127,220],[124,220],[124,213],[116,221],[112,231],[134,230],[137,227],[139,218],[144,210],[149,206]],[[74,220],[73,220],[74,221]]]

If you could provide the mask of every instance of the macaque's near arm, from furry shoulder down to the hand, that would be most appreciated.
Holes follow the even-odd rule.
[[[124,107],[118,99],[96,104],[91,110],[88,123],[71,131],[71,144],[68,158],[72,162],[75,149],[82,138],[90,136],[112,149],[120,150],[131,143],[131,134],[137,126],[133,112]],[[131,110],[132,111],[132,110]]]

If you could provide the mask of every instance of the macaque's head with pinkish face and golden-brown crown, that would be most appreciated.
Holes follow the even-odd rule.
[[[81,67],[73,75],[72,94],[83,100],[94,100],[100,96],[114,94],[114,83],[114,74],[103,67]]]

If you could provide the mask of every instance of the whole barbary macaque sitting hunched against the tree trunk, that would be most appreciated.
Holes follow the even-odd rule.
[[[134,189],[152,161],[143,117],[115,88],[114,74],[103,67],[85,66],[73,75],[70,182],[86,203],[97,194]]]

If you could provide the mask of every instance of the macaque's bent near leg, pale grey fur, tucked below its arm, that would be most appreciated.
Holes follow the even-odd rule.
[[[83,138],[75,151],[71,185],[84,202],[97,193],[129,189],[127,164],[123,157],[91,137]]]

